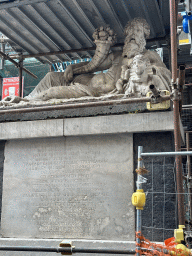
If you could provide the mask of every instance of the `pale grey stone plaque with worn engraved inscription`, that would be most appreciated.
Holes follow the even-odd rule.
[[[2,235],[134,240],[132,158],[130,134],[8,141]]]

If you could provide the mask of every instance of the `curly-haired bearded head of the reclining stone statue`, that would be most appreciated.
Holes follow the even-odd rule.
[[[135,18],[129,21],[125,27],[125,45],[123,57],[132,58],[144,51],[146,38],[150,35],[150,28],[145,19]]]

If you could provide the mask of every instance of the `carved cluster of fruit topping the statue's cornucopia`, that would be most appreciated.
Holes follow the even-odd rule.
[[[117,40],[116,37],[117,35],[109,26],[97,28],[93,33],[93,39],[95,40],[95,43],[100,41],[100,42],[106,42],[112,45],[116,43],[116,40]]]

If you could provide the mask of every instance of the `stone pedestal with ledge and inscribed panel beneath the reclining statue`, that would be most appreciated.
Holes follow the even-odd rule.
[[[110,248],[130,248],[137,147],[157,151],[152,142],[161,134],[166,151],[173,129],[172,111],[1,123],[7,141],[0,243],[100,240],[103,248],[112,241]]]

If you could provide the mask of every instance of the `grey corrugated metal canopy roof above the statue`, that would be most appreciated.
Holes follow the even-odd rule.
[[[0,0],[0,31],[23,54],[93,47],[92,34],[110,25],[118,43],[127,21],[143,17],[151,27],[151,44],[169,34],[168,0]],[[43,62],[63,62],[91,57],[93,51],[40,57]]]

